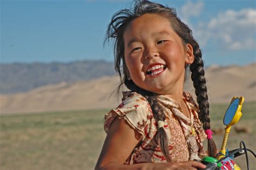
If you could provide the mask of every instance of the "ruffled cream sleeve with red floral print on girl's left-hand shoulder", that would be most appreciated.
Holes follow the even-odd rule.
[[[153,118],[149,103],[136,92],[123,92],[123,96],[123,102],[116,109],[105,114],[105,132],[109,132],[115,118],[124,118],[134,130],[137,130],[145,138],[148,130],[147,125],[152,125]]]

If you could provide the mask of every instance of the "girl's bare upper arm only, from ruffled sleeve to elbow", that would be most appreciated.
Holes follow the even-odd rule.
[[[140,135],[124,119],[114,119],[95,169],[118,169],[124,166],[125,160],[138,144]]]

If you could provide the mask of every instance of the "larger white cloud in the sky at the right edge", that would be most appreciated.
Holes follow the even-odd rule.
[[[256,48],[256,10],[226,10],[212,18],[210,22],[198,25],[195,33],[203,45],[214,40],[229,50],[254,49]]]

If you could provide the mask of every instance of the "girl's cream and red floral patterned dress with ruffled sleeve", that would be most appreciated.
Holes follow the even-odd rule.
[[[106,133],[115,118],[123,118],[129,125],[138,131],[142,138],[133,149],[131,155],[124,162],[125,165],[143,162],[167,162],[154,136],[157,132],[157,123],[148,101],[136,92],[123,92],[122,103],[105,114],[104,130]],[[157,96],[160,105],[164,107],[166,119],[164,130],[169,141],[169,153],[172,162],[182,162],[191,159],[191,146],[188,137],[193,133],[194,143],[197,145],[197,157],[206,156],[203,140],[206,134],[198,118],[198,107],[189,93],[183,93],[183,101],[187,105],[191,118],[181,113],[181,107],[176,100],[166,96]]]

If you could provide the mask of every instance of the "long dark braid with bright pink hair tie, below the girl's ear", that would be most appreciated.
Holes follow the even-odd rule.
[[[199,107],[199,119],[203,123],[204,130],[210,130],[210,116],[209,116],[209,103],[207,96],[207,87],[205,80],[204,72],[204,62],[201,59],[201,50],[198,45],[194,45],[194,62],[190,66],[191,70],[191,79],[193,80],[194,88],[196,89],[195,93],[197,95],[197,103]],[[208,138],[207,138],[208,139]],[[213,139],[208,139],[208,155],[210,157],[216,157],[217,148]]]

